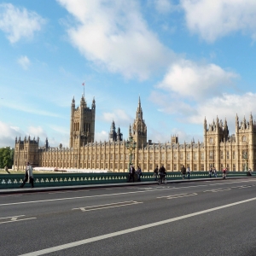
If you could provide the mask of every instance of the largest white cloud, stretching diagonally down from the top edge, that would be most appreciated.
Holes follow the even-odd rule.
[[[148,79],[174,55],[160,44],[136,1],[58,0],[77,24],[67,32],[74,47],[96,65],[127,78]]]

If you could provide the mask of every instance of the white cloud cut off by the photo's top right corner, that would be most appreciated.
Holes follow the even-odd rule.
[[[187,26],[208,42],[231,32],[246,32],[256,39],[255,0],[181,0]]]

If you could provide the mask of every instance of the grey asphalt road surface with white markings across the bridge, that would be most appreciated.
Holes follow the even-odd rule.
[[[256,179],[1,195],[0,255],[256,255]]]

